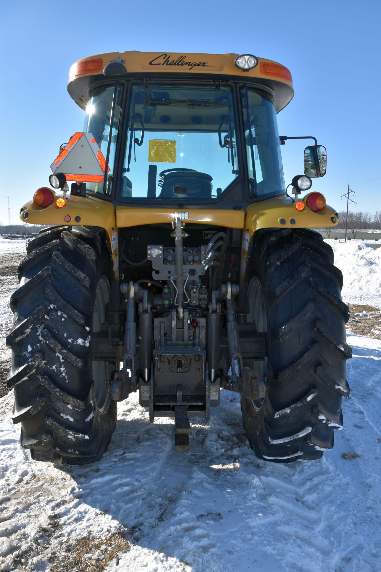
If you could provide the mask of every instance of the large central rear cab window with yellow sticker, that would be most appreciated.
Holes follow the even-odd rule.
[[[215,200],[239,176],[230,86],[130,86],[119,198]]]

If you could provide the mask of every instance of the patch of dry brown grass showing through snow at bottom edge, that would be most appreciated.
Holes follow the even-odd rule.
[[[67,554],[55,560],[50,572],[102,572],[118,554],[131,550],[126,532],[118,530],[105,538],[91,538],[88,533],[68,548]]]

